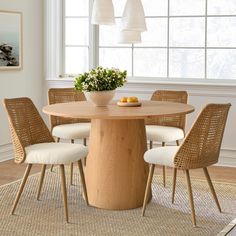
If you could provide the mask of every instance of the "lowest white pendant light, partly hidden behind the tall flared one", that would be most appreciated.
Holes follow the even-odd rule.
[[[118,35],[118,43],[141,43],[140,31],[121,30]]]

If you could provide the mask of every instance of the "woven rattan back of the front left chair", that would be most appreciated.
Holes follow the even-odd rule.
[[[29,98],[4,99],[8,114],[15,162],[25,160],[24,148],[36,143],[54,142],[37,108]]]

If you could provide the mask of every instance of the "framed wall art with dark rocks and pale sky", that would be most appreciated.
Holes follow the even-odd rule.
[[[22,13],[0,10],[0,70],[22,68]]]

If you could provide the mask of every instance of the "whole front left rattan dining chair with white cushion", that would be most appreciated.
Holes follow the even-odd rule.
[[[68,222],[67,191],[64,165],[77,162],[86,203],[88,197],[81,160],[87,156],[88,149],[82,144],[55,143],[38,110],[29,98],[5,99],[4,106],[8,114],[15,162],[27,164],[19,191],[14,201],[11,214],[14,214],[20,196],[25,187],[33,164],[42,164],[42,171],[37,191],[40,197],[47,165],[60,166],[61,191],[64,200],[65,218]]]

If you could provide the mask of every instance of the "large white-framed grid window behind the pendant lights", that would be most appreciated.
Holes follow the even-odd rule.
[[[140,44],[116,42],[126,0],[113,0],[117,24],[99,27],[89,23],[92,0],[62,1],[64,74],[102,65],[136,81],[236,79],[235,0],[142,0],[148,31]]]

